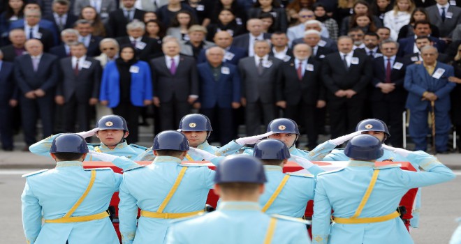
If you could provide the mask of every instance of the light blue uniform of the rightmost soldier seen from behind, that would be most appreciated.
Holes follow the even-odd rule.
[[[395,212],[400,199],[411,188],[434,185],[455,178],[453,172],[431,157],[418,162],[425,172],[404,171],[400,165],[381,169],[374,189],[358,218],[380,217]],[[368,188],[374,163],[350,161],[344,169],[317,176],[312,221],[313,243],[389,244],[413,243],[400,218],[368,224],[330,225],[333,209],[337,218],[351,218]]]

